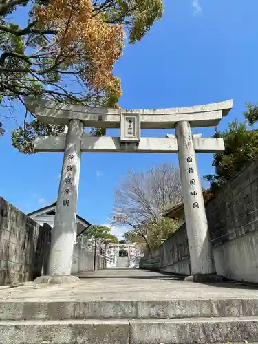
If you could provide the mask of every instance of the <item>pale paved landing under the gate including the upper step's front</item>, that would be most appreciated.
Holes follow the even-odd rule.
[[[204,285],[146,270],[85,272],[72,285],[0,287],[0,319],[258,316],[258,288]]]

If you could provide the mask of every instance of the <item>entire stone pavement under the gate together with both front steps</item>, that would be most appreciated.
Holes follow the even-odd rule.
[[[0,344],[258,342],[258,287],[131,268],[0,287]]]

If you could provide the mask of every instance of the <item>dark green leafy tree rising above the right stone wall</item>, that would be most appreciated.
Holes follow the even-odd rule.
[[[204,176],[211,182],[213,192],[227,184],[230,178],[258,154],[258,130],[250,129],[258,120],[258,106],[250,103],[246,106],[245,121],[234,120],[223,132],[215,130],[214,137],[224,139],[225,150],[214,155],[215,174]]]

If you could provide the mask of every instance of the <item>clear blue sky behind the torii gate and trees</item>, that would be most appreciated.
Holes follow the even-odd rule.
[[[136,45],[127,45],[115,74],[122,80],[125,108],[164,108],[234,99],[234,108],[219,125],[242,119],[246,101],[257,103],[257,0],[165,0],[164,17]],[[19,110],[19,108],[17,108]],[[10,144],[6,123],[0,138],[0,195],[23,212],[56,200],[62,153],[22,155]],[[210,136],[214,128],[194,129]],[[173,130],[149,130],[143,136],[164,137]],[[114,134],[109,131],[108,135]],[[117,135],[117,133],[115,133]],[[213,172],[212,154],[199,154],[200,174]],[[78,214],[92,224],[108,224],[113,191],[129,169],[142,171],[172,162],[175,154],[83,153]],[[114,228],[119,235],[122,228]]]

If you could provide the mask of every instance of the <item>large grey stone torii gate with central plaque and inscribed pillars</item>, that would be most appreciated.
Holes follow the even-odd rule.
[[[224,151],[224,141],[223,138],[192,135],[191,127],[218,125],[232,109],[233,100],[194,107],[138,110],[61,105],[47,101],[35,104],[26,100],[26,103],[39,122],[68,126],[66,135],[40,137],[34,142],[34,149],[38,152],[64,152],[49,276],[38,277],[36,282],[71,283],[78,280],[78,277],[71,276],[71,267],[82,152],[178,153],[191,273],[211,275],[215,272],[195,153]],[[120,128],[120,138],[87,136],[83,133],[84,127]],[[175,136],[140,137],[141,129],[171,128],[175,128]]]

